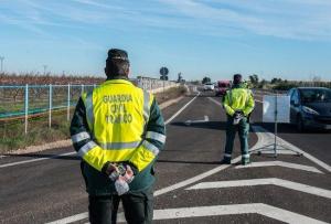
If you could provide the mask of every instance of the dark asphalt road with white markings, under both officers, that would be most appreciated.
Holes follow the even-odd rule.
[[[163,109],[168,138],[156,166],[154,223],[331,223],[330,131],[297,134],[280,125],[279,143],[303,157],[254,153],[242,167],[236,140],[233,164],[221,166],[226,116],[220,102],[192,94]],[[260,103],[252,120],[250,148],[271,142]],[[88,223],[73,148],[3,157],[0,183],[1,223]]]

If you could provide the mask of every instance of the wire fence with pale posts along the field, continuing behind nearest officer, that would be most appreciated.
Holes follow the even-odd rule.
[[[152,93],[179,85],[175,82],[149,77],[138,77],[131,82]],[[0,134],[6,136],[8,129],[28,134],[32,125],[52,128],[57,126],[58,121],[68,122],[81,95],[96,86],[96,84],[0,86]],[[20,126],[20,129],[12,128],[13,125]]]

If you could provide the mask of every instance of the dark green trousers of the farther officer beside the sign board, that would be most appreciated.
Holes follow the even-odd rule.
[[[238,125],[233,125],[233,117],[227,116],[226,122],[226,143],[225,143],[225,153],[224,159],[231,160],[234,139],[236,136],[236,131],[238,130],[239,141],[241,141],[241,150],[242,150],[242,161],[249,161],[249,152],[248,152],[248,131],[249,124],[247,118],[244,117]]]

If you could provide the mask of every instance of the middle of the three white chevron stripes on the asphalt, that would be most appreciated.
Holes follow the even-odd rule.
[[[331,199],[331,191],[329,190],[320,189],[320,188],[316,188],[302,183],[297,183],[288,180],[282,180],[278,178],[202,182],[193,186],[190,186],[186,190],[222,189],[222,188],[253,186],[253,185],[268,185],[268,184],[278,185],[290,190],[301,191],[317,196]]]

